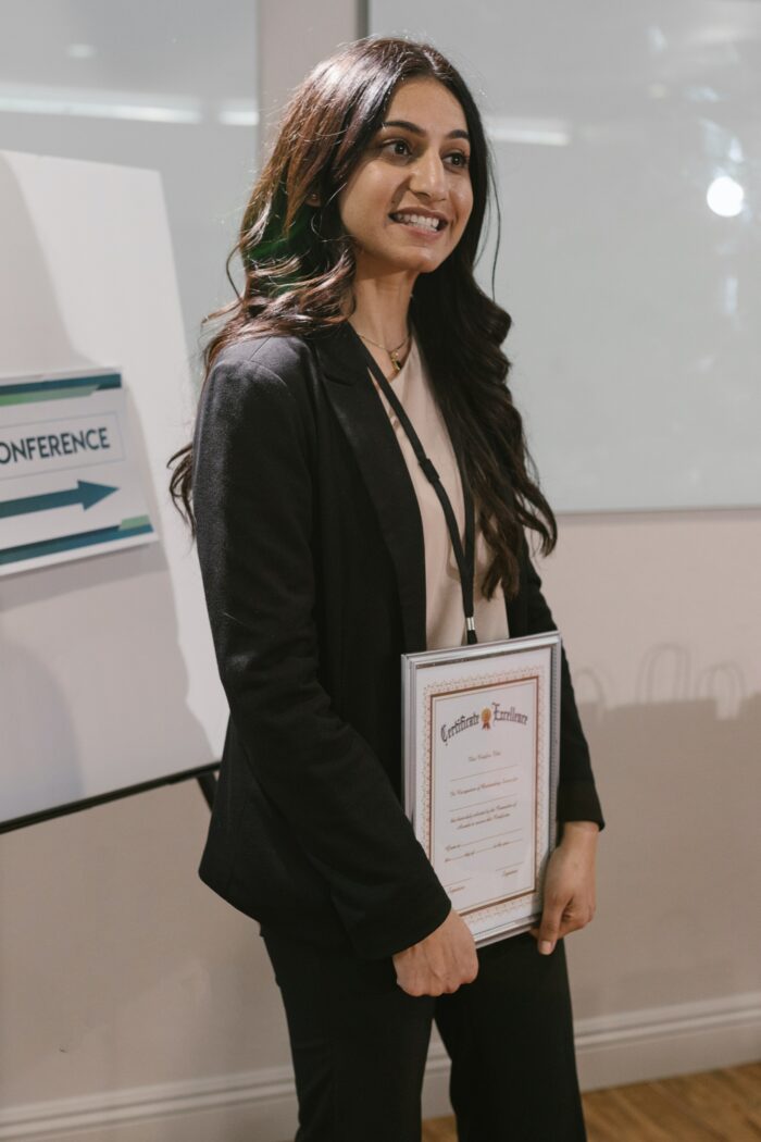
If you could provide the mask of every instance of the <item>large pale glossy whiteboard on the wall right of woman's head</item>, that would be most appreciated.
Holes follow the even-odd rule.
[[[485,118],[554,509],[761,504],[761,5],[373,0],[370,31],[432,42]]]

